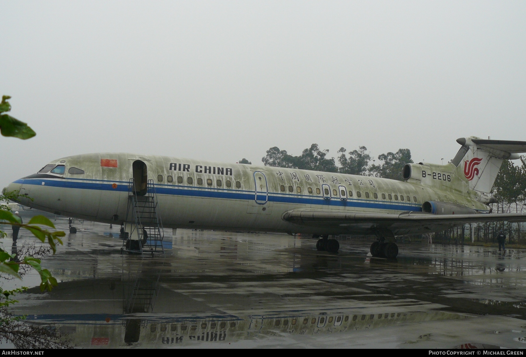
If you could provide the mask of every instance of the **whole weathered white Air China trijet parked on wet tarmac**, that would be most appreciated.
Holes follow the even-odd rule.
[[[457,142],[461,147],[446,165],[407,164],[403,181],[97,153],[53,160],[3,192],[18,190],[19,203],[56,215],[120,222],[128,251],[142,251],[148,234],[161,240],[164,227],[312,234],[319,238],[316,248],[331,253],[339,250],[331,235],[374,234],[372,256],[396,258],[397,236],[467,223],[526,221],[526,213],[490,214],[489,206],[496,202],[491,189],[503,160],[519,159],[526,141],[467,137]],[[157,230],[148,233],[152,226]]]

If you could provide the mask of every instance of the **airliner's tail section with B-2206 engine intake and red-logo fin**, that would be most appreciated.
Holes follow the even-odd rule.
[[[404,180],[462,195],[474,194],[482,203],[495,202],[491,189],[503,160],[519,159],[519,154],[526,152],[526,141],[470,136],[457,142],[462,147],[448,164],[408,164],[403,169]]]

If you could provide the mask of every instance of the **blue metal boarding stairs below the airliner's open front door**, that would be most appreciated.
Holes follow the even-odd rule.
[[[134,179],[128,184],[128,208],[124,223],[121,251],[133,253],[164,253],[163,222],[158,214],[157,192],[154,180],[148,180],[144,196],[137,196]]]

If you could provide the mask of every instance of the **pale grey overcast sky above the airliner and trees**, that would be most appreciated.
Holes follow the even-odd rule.
[[[0,1],[0,188],[48,161],[137,152],[261,164],[459,137],[526,140],[526,2]]]

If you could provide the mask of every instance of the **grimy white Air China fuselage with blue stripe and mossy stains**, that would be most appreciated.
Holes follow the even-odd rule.
[[[134,162],[140,162],[145,169],[138,172],[135,164],[134,170]],[[126,219],[130,178],[135,178],[136,185],[140,185],[140,180],[153,180],[159,216],[163,226],[169,228],[370,233],[367,224],[327,227],[321,232],[317,227],[285,221],[282,215],[297,208],[399,214],[422,211],[426,201],[452,202],[478,212],[489,211],[473,192],[426,187],[412,179],[398,181],[134,154],[85,154],[54,160],[48,165],[58,173],[48,170],[34,174],[13,182],[7,189],[21,190],[21,203],[29,207],[106,223]],[[61,165],[64,168],[57,170]],[[428,176],[433,179],[432,172]],[[420,232],[415,228],[393,233]]]

